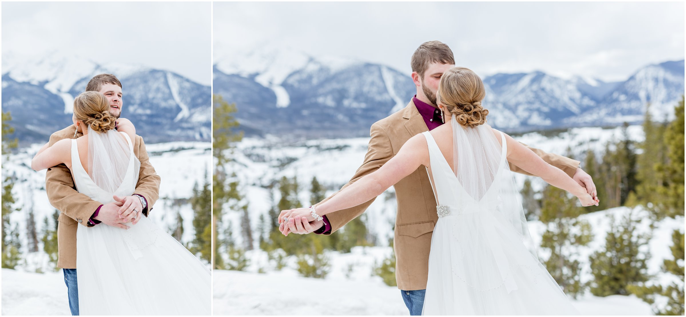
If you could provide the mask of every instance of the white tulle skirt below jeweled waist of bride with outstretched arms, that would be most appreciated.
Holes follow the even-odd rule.
[[[486,210],[438,218],[422,314],[579,312],[512,225]]]

